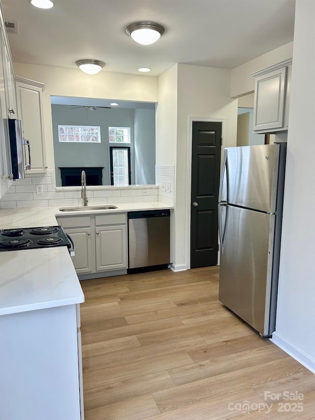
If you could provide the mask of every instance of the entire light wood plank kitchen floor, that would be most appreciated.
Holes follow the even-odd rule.
[[[227,310],[218,280],[215,266],[81,282],[86,420],[315,419],[315,375]]]

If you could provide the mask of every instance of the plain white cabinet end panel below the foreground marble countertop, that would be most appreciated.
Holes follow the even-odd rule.
[[[80,420],[77,325],[75,304],[0,316],[0,419]]]

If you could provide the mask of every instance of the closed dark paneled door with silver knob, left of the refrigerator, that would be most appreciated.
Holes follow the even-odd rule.
[[[218,263],[221,123],[192,123],[190,268]]]

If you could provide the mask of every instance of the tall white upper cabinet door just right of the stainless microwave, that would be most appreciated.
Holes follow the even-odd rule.
[[[42,173],[46,172],[42,112],[44,85],[38,83],[36,86],[34,82],[27,80],[25,82],[29,83],[16,78],[17,118],[22,120],[23,135],[24,138],[30,140],[32,151],[32,169],[29,169],[27,173]]]

